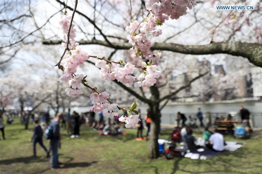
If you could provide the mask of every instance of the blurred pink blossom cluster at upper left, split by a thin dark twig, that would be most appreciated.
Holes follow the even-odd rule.
[[[66,35],[67,35],[68,29],[69,29],[71,18],[72,18],[71,16],[63,15],[61,20],[59,20],[59,24],[61,25],[62,30],[63,30],[63,34],[64,34],[64,36],[61,38],[63,40],[62,46],[64,46],[64,47],[66,47],[66,41],[67,41]],[[75,48],[76,46],[79,45],[78,43],[75,42],[76,29],[74,27],[75,27],[75,25],[72,24],[71,30],[70,30],[70,35],[69,35],[69,38],[70,38],[69,44],[68,44],[69,49],[73,49],[73,48]]]

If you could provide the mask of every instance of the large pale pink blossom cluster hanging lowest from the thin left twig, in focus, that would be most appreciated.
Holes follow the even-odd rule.
[[[67,95],[77,97],[82,94],[79,88],[80,83],[84,79],[83,74],[76,75],[78,65],[89,59],[86,52],[82,51],[78,46],[74,50],[69,51],[69,57],[61,61],[61,65],[65,67],[65,74],[61,75],[57,81],[68,81],[69,88],[65,89]]]

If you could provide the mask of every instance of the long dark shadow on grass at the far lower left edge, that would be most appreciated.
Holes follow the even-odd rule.
[[[21,157],[21,158],[14,158],[14,159],[6,159],[6,160],[1,160],[0,164],[4,164],[4,165],[9,165],[9,164],[13,164],[13,163],[25,163],[25,164],[29,164],[32,162],[46,162],[48,161],[48,158],[45,159],[41,159],[40,156],[34,157],[34,156],[28,156],[28,157]]]

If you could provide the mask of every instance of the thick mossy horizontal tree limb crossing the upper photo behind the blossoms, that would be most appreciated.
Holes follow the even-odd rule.
[[[43,44],[54,45],[60,44],[61,41],[43,41]],[[90,40],[78,41],[79,44],[89,45],[103,45],[115,49],[129,49],[130,43],[112,43],[110,46],[106,41]],[[262,43],[246,43],[246,42],[217,42],[207,45],[181,45],[177,43],[154,43],[152,50],[172,51],[176,53],[192,54],[192,55],[206,55],[206,54],[220,54],[225,53],[229,55],[242,56],[258,67],[262,67]]]

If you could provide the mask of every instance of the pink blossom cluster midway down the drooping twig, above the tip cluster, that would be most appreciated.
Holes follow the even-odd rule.
[[[104,109],[108,109],[106,112],[103,112],[103,116],[108,118],[113,118],[114,116],[118,116],[117,113],[113,111],[114,108],[117,108],[117,103],[105,103],[109,94],[107,92],[102,93],[92,93],[90,94],[90,99],[92,100],[92,106],[89,108],[90,112],[103,112]]]

